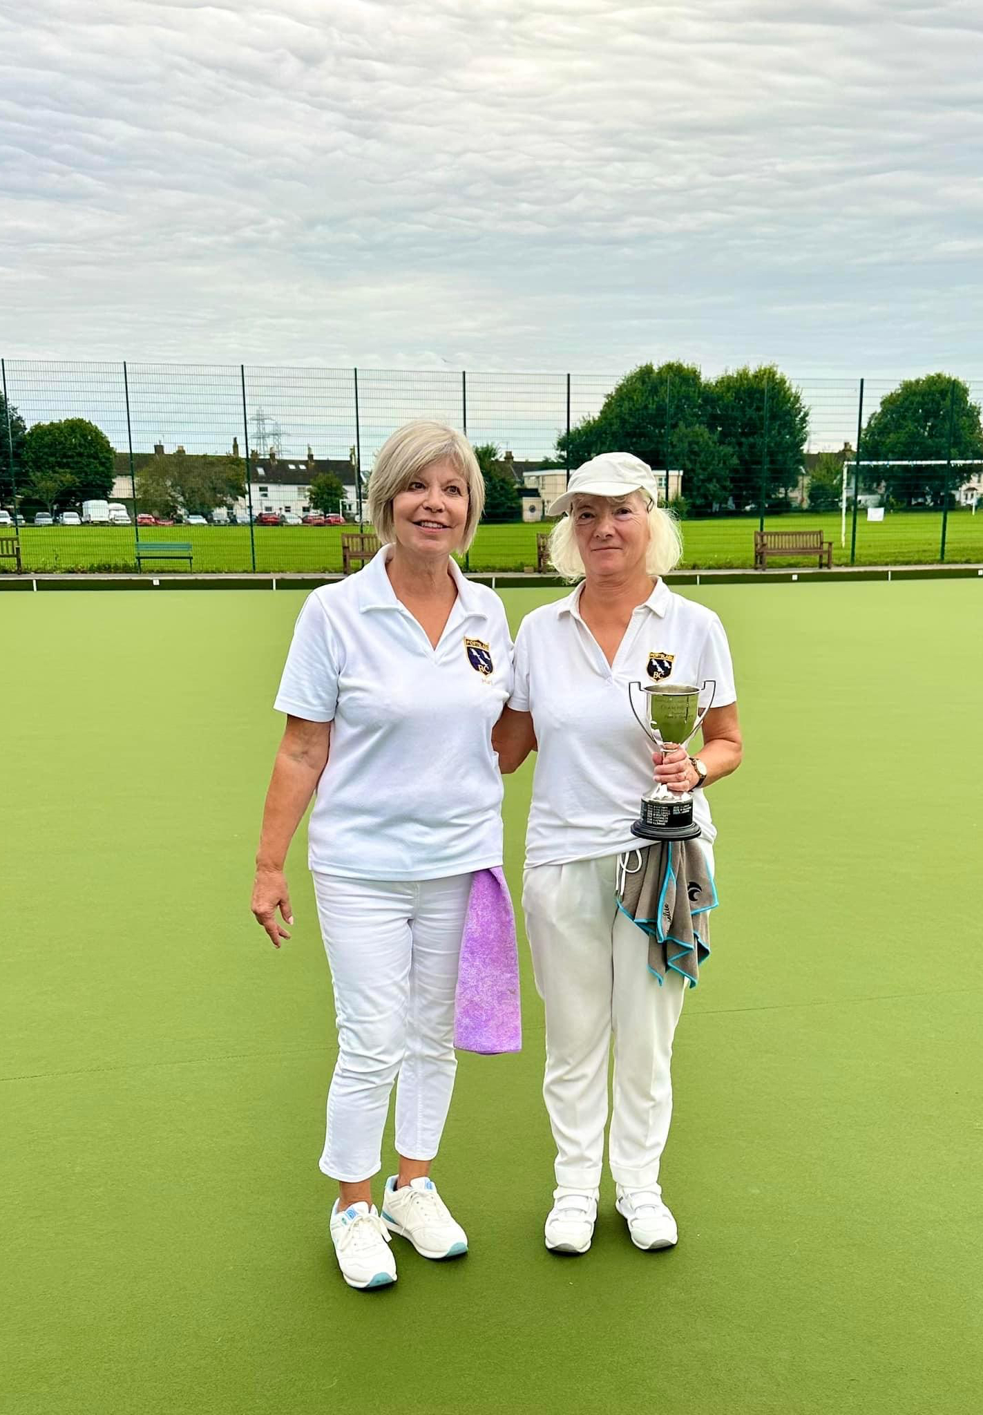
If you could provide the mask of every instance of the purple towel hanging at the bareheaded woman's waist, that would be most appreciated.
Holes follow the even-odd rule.
[[[458,1051],[498,1056],[522,1050],[519,949],[502,870],[475,870],[454,998]]]

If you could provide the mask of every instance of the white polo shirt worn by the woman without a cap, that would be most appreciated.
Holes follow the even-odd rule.
[[[423,880],[502,863],[491,730],[512,692],[502,601],[451,560],[457,600],[436,648],[389,583],[383,546],[304,603],[276,708],[331,722],[308,863]]]

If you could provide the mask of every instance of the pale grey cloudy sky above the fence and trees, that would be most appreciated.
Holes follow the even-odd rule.
[[[0,352],[983,372],[979,0],[0,0]]]

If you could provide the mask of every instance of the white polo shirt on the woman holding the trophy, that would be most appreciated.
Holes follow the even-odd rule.
[[[727,635],[703,604],[656,580],[631,616],[611,666],[573,594],[533,610],[515,640],[509,708],[532,713],[539,750],[526,832],[526,865],[566,865],[634,849],[631,833],[652,787],[652,744],[635,722],[628,683],[713,678],[714,708],[737,700]],[[635,692],[642,717],[645,698]],[[702,699],[702,706],[706,698]],[[693,819],[716,836],[703,791]]]

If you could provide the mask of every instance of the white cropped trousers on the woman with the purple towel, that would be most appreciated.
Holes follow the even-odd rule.
[[[454,990],[470,890],[470,873],[389,883],[314,872],[338,1026],[320,1160],[332,1179],[379,1172],[397,1075],[397,1152],[437,1153],[457,1070]]]

